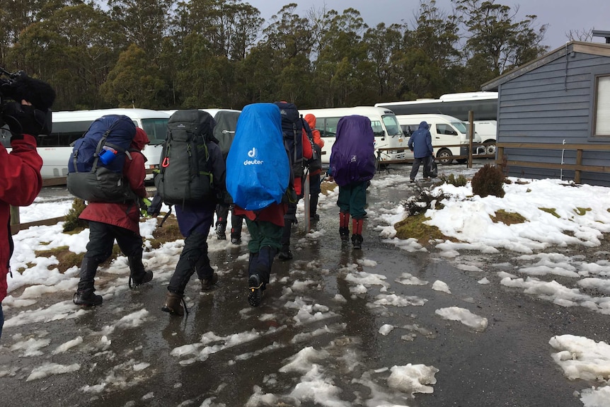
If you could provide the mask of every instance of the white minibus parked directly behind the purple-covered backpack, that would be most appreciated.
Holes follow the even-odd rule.
[[[330,151],[335,144],[335,134],[337,124],[343,116],[362,115],[369,117],[371,127],[375,133],[375,154],[379,156],[379,161],[402,161],[413,158],[413,153],[408,149],[408,137],[401,131],[396,115],[385,108],[375,108],[374,106],[357,106],[355,108],[328,108],[328,109],[306,109],[300,110],[303,116],[312,114],[316,116],[316,129],[320,131],[324,140],[322,149],[322,162],[328,164]],[[377,149],[391,149],[381,150]]]

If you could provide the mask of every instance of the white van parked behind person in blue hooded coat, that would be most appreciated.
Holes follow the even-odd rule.
[[[439,163],[447,165],[454,161],[454,156],[468,156],[468,125],[449,115],[397,115],[398,123],[405,135],[418,130],[420,122],[427,122],[432,135],[432,147]],[[473,143],[480,143],[480,136],[474,134]],[[484,147],[473,147],[473,154],[485,154]],[[465,163],[466,159],[457,159]]]

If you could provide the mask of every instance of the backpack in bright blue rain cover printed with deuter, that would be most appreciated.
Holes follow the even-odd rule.
[[[289,178],[280,108],[273,103],[247,105],[226,157],[226,190],[239,207],[262,210],[282,202]]]

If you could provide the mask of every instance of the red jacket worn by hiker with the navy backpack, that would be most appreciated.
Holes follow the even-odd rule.
[[[130,186],[137,196],[146,197],[146,188],[144,186],[144,178],[146,178],[146,169],[144,168],[144,154],[140,152],[146,143],[149,142],[146,132],[136,128],[136,136],[132,142],[130,151],[132,159],[125,157],[125,166],[123,174],[130,183]],[[110,202],[90,202],[79,216],[80,219],[92,220],[106,224],[113,224],[118,227],[130,229],[134,233],[139,234],[139,218],[140,209],[138,202],[129,203],[110,203]]]

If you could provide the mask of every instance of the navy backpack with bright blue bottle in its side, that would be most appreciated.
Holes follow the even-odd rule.
[[[125,157],[136,134],[125,115],[105,115],[94,120],[83,137],[73,143],[68,161],[69,192],[89,202],[130,202],[137,196],[123,178]],[[100,156],[109,154],[110,160]]]

